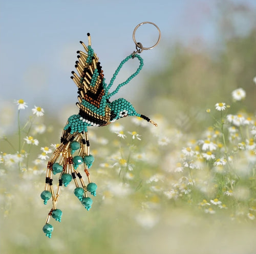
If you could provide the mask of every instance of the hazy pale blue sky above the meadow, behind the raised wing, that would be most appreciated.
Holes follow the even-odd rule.
[[[256,7],[252,0],[231,2]],[[79,41],[87,44],[88,32],[107,82],[120,61],[135,49],[132,33],[142,21],[155,22],[162,32],[161,43],[141,54],[145,72],[154,70],[156,63],[161,68],[164,48],[177,40],[186,44],[199,40],[205,45],[217,41],[216,1],[210,0],[6,0],[1,3],[0,15],[0,99],[23,98],[30,106],[54,110],[56,103],[76,102],[70,75],[76,51],[82,49]],[[139,40],[146,44],[154,44],[156,36],[154,28],[138,30]],[[133,67],[134,63],[127,64],[121,77]],[[139,85],[142,81],[133,82]]]

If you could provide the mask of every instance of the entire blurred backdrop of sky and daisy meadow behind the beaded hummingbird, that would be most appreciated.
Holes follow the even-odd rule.
[[[255,1],[11,0],[0,17],[1,253],[256,252]],[[97,196],[88,212],[74,183],[62,188],[49,239],[40,193],[78,112],[79,41],[91,33],[108,83],[143,21],[161,42],[116,98],[158,127],[127,117],[89,128]],[[158,34],[145,25],[136,36],[150,46]],[[116,85],[137,67],[129,61]]]

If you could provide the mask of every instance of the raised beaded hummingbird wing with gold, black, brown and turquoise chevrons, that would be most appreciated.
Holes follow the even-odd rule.
[[[88,46],[82,41],[85,52],[77,51],[77,73],[72,71],[71,79],[78,87],[79,115],[89,122],[89,125],[103,126],[110,123],[111,109],[106,97],[106,84],[99,58],[91,47],[91,36],[88,35]],[[93,124],[92,124],[93,123]]]

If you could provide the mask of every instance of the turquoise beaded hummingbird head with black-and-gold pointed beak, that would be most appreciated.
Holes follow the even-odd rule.
[[[150,118],[138,114],[133,105],[124,98],[112,101],[109,106],[111,108],[111,122],[126,116],[138,116],[157,126],[157,123],[153,122]]]

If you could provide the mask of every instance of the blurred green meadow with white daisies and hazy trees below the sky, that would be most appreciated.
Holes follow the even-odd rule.
[[[255,31],[213,52],[164,49],[165,67],[145,71],[137,97],[126,98],[158,126],[126,117],[88,128],[97,195],[87,211],[74,182],[63,187],[51,239],[40,193],[69,111],[4,101],[0,252],[255,253]]]

